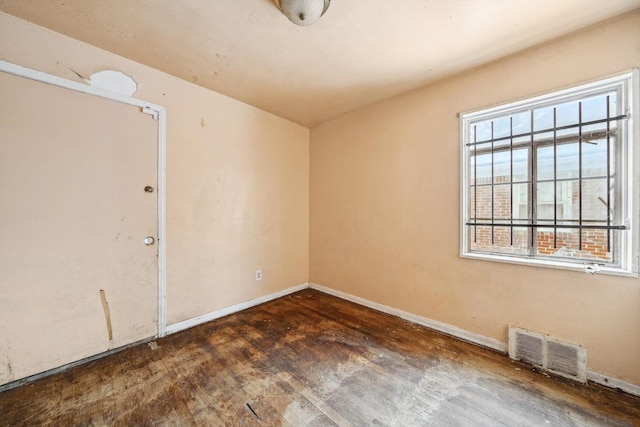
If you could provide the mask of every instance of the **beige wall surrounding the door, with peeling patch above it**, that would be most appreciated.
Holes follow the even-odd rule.
[[[308,129],[2,13],[0,59],[76,81],[119,70],[167,108],[169,324],[308,281]]]

